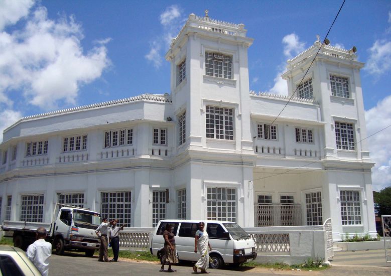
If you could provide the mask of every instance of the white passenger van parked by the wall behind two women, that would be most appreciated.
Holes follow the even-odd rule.
[[[151,254],[160,258],[163,263],[163,232],[167,223],[172,225],[175,244],[180,260],[197,261],[201,257],[198,250],[194,252],[194,236],[198,230],[199,220],[166,219],[159,221],[151,242]],[[256,257],[255,242],[236,223],[230,221],[203,220],[212,250],[209,256],[213,260],[211,268],[221,268],[224,263],[240,264]]]

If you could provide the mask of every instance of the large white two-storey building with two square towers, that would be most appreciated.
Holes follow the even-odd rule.
[[[171,94],[27,116],[5,129],[0,219],[49,222],[60,202],[127,227],[331,218],[335,241],[375,236],[355,49],[318,39],[288,60],[289,96],[278,96],[249,89],[252,42],[243,24],[191,14],[166,54]]]

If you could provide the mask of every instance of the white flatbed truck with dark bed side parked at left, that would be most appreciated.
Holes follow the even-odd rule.
[[[46,240],[53,244],[56,254],[63,254],[65,249],[76,249],[84,251],[87,257],[92,257],[100,245],[95,234],[95,229],[100,224],[100,214],[64,204],[57,206],[65,207],[61,207],[57,219],[52,223],[3,221],[4,236],[13,237],[14,246],[26,250],[35,241],[36,230],[43,226],[48,231]]]

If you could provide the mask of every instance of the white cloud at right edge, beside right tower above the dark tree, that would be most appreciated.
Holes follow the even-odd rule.
[[[391,96],[385,97],[375,107],[365,111],[367,135],[391,125]],[[374,134],[366,141],[370,157],[375,166],[372,169],[373,190],[391,186],[391,127]]]

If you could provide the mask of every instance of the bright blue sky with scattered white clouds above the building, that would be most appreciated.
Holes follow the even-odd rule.
[[[243,23],[250,89],[287,94],[286,60],[323,40],[343,0],[0,0],[0,131],[22,116],[170,93],[171,39],[188,16]],[[391,2],[346,0],[328,39],[357,48],[373,189],[391,186]],[[376,133],[376,134],[374,134]],[[373,134],[373,135],[372,135]],[[1,135],[0,135],[1,136]],[[0,137],[0,141],[2,137]]]

